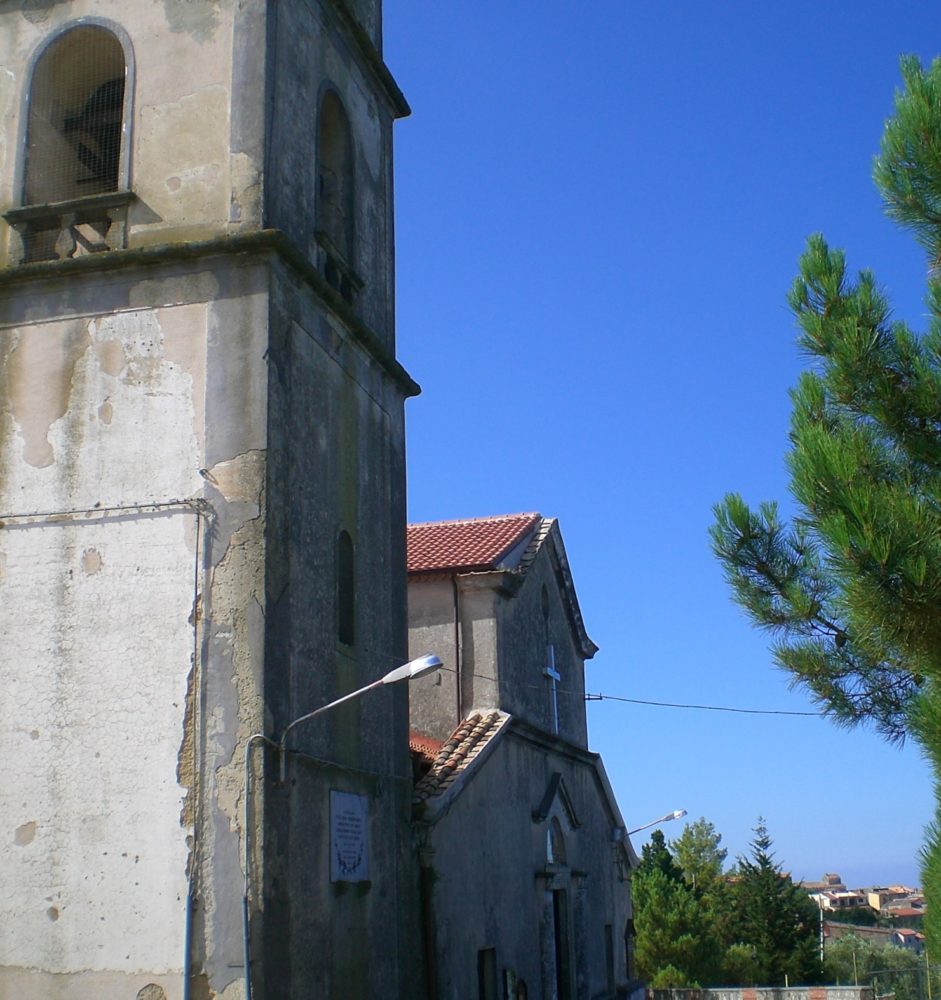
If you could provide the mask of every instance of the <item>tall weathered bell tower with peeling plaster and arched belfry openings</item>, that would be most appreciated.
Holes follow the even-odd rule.
[[[380,7],[0,6],[0,997],[420,983]]]

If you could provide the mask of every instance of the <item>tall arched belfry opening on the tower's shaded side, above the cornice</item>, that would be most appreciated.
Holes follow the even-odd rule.
[[[329,90],[320,105],[317,130],[317,242],[324,277],[347,302],[360,286],[352,269],[354,187],[349,120],[340,98]]]

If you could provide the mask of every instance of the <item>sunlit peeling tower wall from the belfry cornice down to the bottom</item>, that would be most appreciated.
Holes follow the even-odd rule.
[[[241,989],[267,303],[241,260],[0,294],[2,1000],[179,997],[194,864],[197,995]]]

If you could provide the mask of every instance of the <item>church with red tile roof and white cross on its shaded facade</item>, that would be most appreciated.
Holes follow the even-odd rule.
[[[597,651],[558,522],[408,528],[409,644],[444,661],[410,687],[430,1000],[634,993],[637,857],[588,749]]]

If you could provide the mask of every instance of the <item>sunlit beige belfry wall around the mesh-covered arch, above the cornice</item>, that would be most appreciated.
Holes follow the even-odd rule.
[[[127,33],[134,58],[128,245],[261,224],[264,0],[0,3],[0,211],[20,204],[32,60],[82,17]],[[185,72],[180,68],[185,67]],[[0,224],[0,264],[10,233]]]

